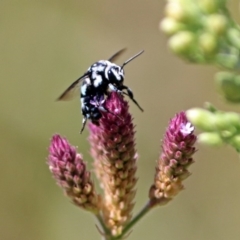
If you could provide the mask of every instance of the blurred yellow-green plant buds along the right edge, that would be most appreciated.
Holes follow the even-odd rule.
[[[231,17],[226,0],[169,0],[161,29],[169,47],[185,60],[218,66],[215,83],[223,98],[240,103],[240,27]],[[209,107],[209,106],[208,106]],[[230,144],[240,149],[240,115],[210,107],[195,108],[187,116],[204,131],[199,141]]]

